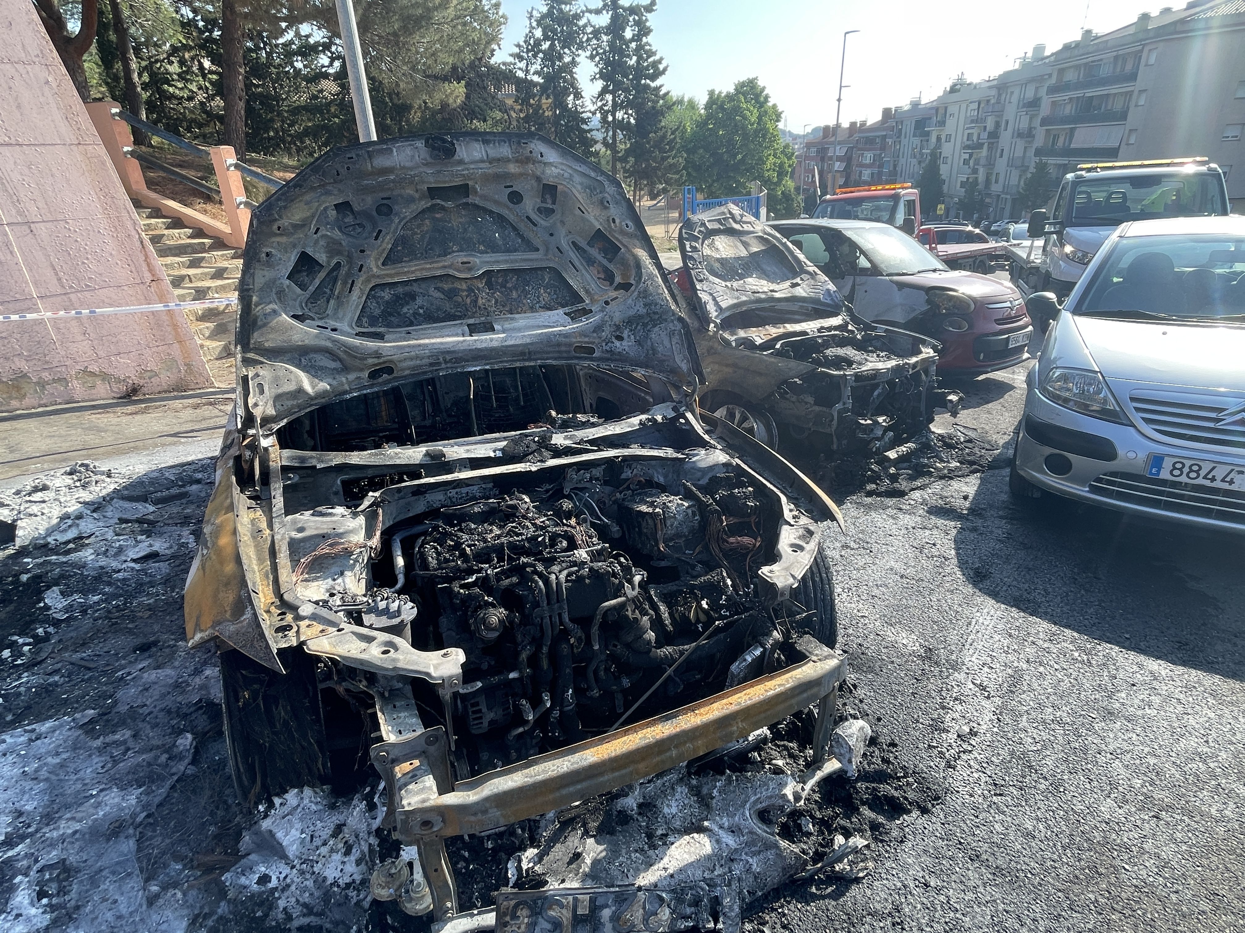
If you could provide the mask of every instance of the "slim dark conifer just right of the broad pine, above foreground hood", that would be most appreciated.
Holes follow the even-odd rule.
[[[578,75],[588,31],[575,0],[544,0],[539,12],[528,11],[528,29],[513,56],[529,82],[519,100],[527,127],[584,154],[594,146]]]

